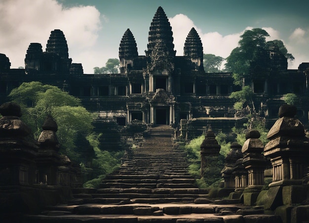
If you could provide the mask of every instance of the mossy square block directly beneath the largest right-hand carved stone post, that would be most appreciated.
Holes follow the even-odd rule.
[[[282,187],[283,205],[293,205],[306,200],[305,187],[301,185],[291,185]]]

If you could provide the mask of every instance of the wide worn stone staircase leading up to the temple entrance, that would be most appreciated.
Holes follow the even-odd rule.
[[[255,214],[258,222],[281,222],[261,208],[207,199],[208,191],[195,186],[187,154],[172,143],[172,134],[169,126],[151,128],[132,159],[100,188],[75,188],[70,204],[48,207],[23,223],[250,223],[256,222]]]

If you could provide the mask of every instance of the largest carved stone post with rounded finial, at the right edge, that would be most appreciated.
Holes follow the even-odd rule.
[[[306,187],[302,185],[309,165],[309,139],[299,119],[294,117],[296,108],[281,106],[279,119],[268,133],[270,142],[264,155],[270,157],[273,170],[270,188],[280,187],[282,204],[292,205],[306,200]]]

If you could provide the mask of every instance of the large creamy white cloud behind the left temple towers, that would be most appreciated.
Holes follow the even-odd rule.
[[[0,53],[9,57],[11,68],[24,66],[31,42],[41,43],[45,51],[54,29],[64,32],[70,57],[80,50],[91,51],[104,18],[94,6],[66,8],[56,0],[2,0],[0,14],[0,31],[5,36],[0,38]]]

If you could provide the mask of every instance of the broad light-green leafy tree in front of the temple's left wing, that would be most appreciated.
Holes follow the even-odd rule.
[[[80,99],[58,87],[37,81],[22,83],[11,91],[9,97],[21,106],[21,119],[32,128],[35,138],[39,138],[45,118],[54,118],[58,124],[61,151],[72,159],[78,159],[78,154],[74,152],[77,133],[89,133],[94,118],[91,112],[81,106]]]

